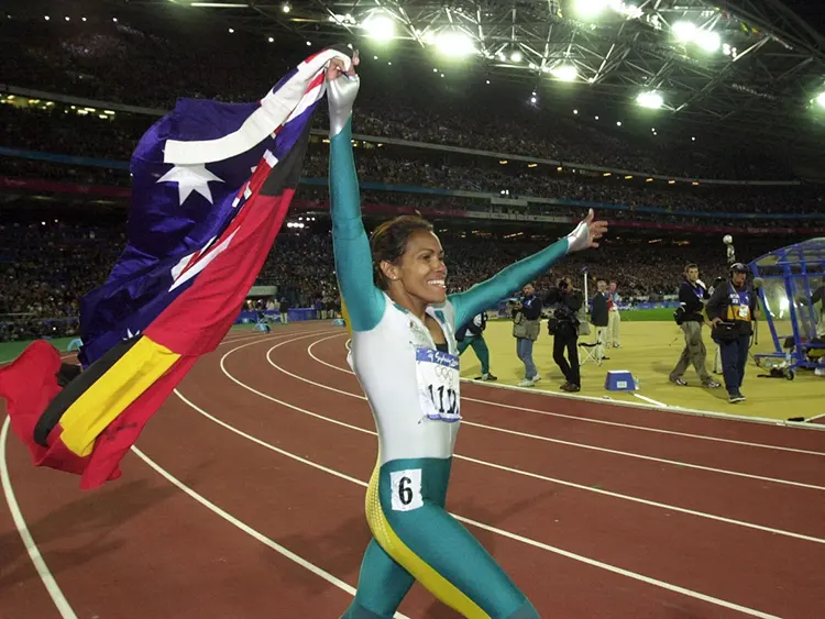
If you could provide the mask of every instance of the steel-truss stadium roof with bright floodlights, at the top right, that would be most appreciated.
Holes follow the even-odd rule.
[[[658,107],[658,125],[725,126],[743,140],[822,152],[825,36],[818,2],[791,0],[129,0],[169,3],[261,36],[342,38],[394,58],[544,92],[576,88],[604,107]],[[119,0],[122,7],[122,0]],[[801,16],[809,15],[810,22]],[[363,47],[362,47],[363,48]],[[458,62],[458,60],[453,60]],[[572,81],[574,85],[559,82]],[[660,99],[659,99],[660,98]]]

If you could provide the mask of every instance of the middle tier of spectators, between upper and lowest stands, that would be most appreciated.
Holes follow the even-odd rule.
[[[139,122],[140,120],[140,122]],[[25,151],[56,153],[111,161],[117,167],[57,164],[11,156],[0,156],[0,176],[42,178],[65,183],[128,187],[128,161],[148,119],[101,120],[97,117],[65,114],[59,110],[19,109],[0,106],[0,146]],[[414,186],[449,191],[474,191],[504,198],[552,198],[561,201],[585,201],[615,205],[610,219],[682,224],[729,224],[734,218],[718,213],[745,213],[755,220],[770,220],[776,213],[811,214],[811,221],[825,219],[825,203],[818,186],[717,186],[669,185],[645,183],[622,175],[588,174],[572,168],[536,166],[524,162],[479,157],[457,159],[444,153],[411,148],[359,147],[356,166],[362,181],[393,186]],[[506,161],[506,159],[502,159]],[[315,141],[307,154],[302,176],[324,178],[328,148]],[[415,208],[453,210],[488,209],[490,199],[433,197],[426,194],[369,190],[372,203],[403,203]],[[326,187],[304,185],[300,198],[324,200]],[[654,207],[666,212],[649,213],[639,207]],[[578,217],[581,209],[563,205],[532,206],[531,212]],[[703,214],[692,214],[703,213]],[[712,217],[708,217],[708,214]],[[788,220],[793,221],[793,220]]]

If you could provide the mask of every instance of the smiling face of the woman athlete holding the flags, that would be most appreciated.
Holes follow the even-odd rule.
[[[398,265],[392,265],[393,277],[404,286],[406,292],[426,303],[443,303],[447,300],[447,265],[441,241],[428,231],[414,232],[407,239],[407,247]]]

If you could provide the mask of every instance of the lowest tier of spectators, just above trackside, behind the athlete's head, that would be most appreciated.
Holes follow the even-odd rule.
[[[515,236],[439,229],[447,252],[448,287],[464,290],[556,240],[550,235]],[[125,244],[122,225],[50,220],[0,225],[0,341],[75,335],[79,299],[103,284]],[[751,258],[776,246],[774,240],[749,243]],[[696,259],[706,277],[725,268],[722,245],[698,246],[607,240],[597,252],[571,255],[538,283],[539,290],[559,277],[590,284],[616,280],[625,299],[672,295],[685,261]],[[327,221],[315,228],[284,229],[267,256],[257,285],[277,286],[277,299],[290,307],[326,306],[338,300],[332,240]]]

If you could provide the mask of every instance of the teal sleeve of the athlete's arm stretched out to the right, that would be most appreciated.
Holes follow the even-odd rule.
[[[455,311],[455,328],[460,328],[479,312],[488,309],[493,303],[498,302],[546,273],[566,253],[568,239],[564,237],[549,247],[544,247],[540,252],[499,270],[496,275],[486,281],[476,284],[470,290],[450,295],[449,298]]]

